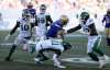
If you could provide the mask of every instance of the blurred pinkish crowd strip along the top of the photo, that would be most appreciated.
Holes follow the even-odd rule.
[[[67,11],[86,8],[90,10],[90,12],[98,12],[106,11],[110,8],[110,0],[0,0],[0,9],[22,9],[25,8],[30,1],[35,8],[41,3],[46,3],[50,10],[52,10],[52,7]]]

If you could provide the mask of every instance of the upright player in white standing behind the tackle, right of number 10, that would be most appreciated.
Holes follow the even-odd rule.
[[[36,14],[36,40],[46,39],[47,26],[53,23],[53,20],[51,15],[46,13],[45,4],[40,5],[40,13]]]

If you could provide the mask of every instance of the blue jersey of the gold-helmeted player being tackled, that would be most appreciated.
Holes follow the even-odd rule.
[[[54,22],[52,25],[51,25],[51,28],[47,31],[47,37],[57,37],[57,32],[59,30],[63,30],[63,25],[62,25],[62,22],[61,20]]]

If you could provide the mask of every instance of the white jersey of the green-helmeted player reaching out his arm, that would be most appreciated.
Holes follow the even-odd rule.
[[[86,23],[80,21],[81,28],[85,33],[89,33],[89,25],[94,23],[92,19],[88,19]]]

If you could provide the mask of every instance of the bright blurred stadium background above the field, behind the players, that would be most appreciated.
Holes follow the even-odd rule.
[[[21,16],[22,9],[32,2],[36,12],[41,3],[47,5],[47,12],[53,20],[57,20],[61,14],[67,14],[70,19],[66,28],[78,24],[77,15],[81,11],[88,11],[95,19],[97,28],[103,31],[101,23],[102,16],[107,9],[110,8],[110,0],[0,0],[0,12],[2,13],[3,23],[0,23],[0,30],[10,30],[14,26],[16,19]]]

